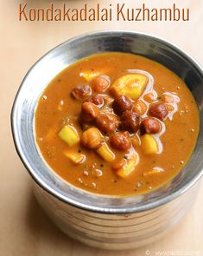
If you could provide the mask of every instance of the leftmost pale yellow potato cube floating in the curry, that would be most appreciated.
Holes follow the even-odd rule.
[[[76,129],[71,125],[65,125],[65,127],[60,130],[59,137],[61,140],[67,142],[69,147],[79,142],[79,135]]]

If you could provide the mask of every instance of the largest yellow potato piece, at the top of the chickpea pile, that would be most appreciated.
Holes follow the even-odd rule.
[[[128,74],[119,77],[111,86],[113,95],[125,95],[136,100],[143,94],[148,77],[143,74]]]

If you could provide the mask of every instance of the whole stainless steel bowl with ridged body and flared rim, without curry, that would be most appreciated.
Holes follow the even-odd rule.
[[[39,97],[55,75],[79,59],[106,51],[146,56],[181,77],[200,109],[200,135],[193,155],[172,181],[154,192],[124,198],[82,191],[60,179],[35,144]],[[29,69],[11,113],[16,150],[35,181],[41,207],[65,233],[91,246],[124,249],[159,239],[187,213],[203,174],[203,71],[173,44],[135,32],[103,31],[74,37],[52,49]]]

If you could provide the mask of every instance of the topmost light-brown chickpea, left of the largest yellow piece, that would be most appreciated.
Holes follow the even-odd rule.
[[[99,75],[92,79],[92,89],[98,93],[104,93],[110,87],[110,77],[108,75]]]

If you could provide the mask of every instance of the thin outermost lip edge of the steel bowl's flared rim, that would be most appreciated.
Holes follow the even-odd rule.
[[[154,36],[148,33],[143,33],[143,32],[134,32],[134,31],[130,31],[130,30],[101,30],[101,31],[93,31],[93,32],[88,32],[79,36],[74,36],[70,39],[68,39],[67,41],[60,43],[59,45],[57,45],[56,47],[54,47],[53,49],[50,49],[46,54],[44,54],[43,56],[41,56],[41,58],[39,60],[37,60],[32,66],[31,68],[28,70],[27,74],[24,76],[22,83],[19,87],[19,89],[17,90],[16,93],[16,97],[15,100],[13,102],[13,106],[11,109],[11,114],[10,114],[10,122],[11,122],[11,132],[13,135],[13,140],[14,140],[14,144],[15,144],[15,148],[16,148],[16,152],[19,155],[24,167],[26,167],[26,169],[28,170],[29,174],[31,175],[31,177],[34,179],[34,181],[43,189],[45,189],[48,194],[52,194],[54,195],[54,197],[56,197],[57,199],[68,203],[70,205],[72,205],[73,207],[77,207],[83,210],[87,210],[87,211],[91,211],[94,213],[113,213],[113,214],[122,214],[122,213],[140,213],[143,211],[148,211],[151,209],[155,209],[156,207],[161,207],[162,205],[167,204],[169,201],[176,199],[177,197],[179,197],[181,194],[184,194],[187,192],[187,190],[191,187],[193,187],[193,185],[200,180],[201,176],[203,176],[203,167],[200,169],[199,173],[196,174],[193,179],[191,179],[190,181],[187,181],[187,183],[183,186],[180,187],[180,189],[178,189],[177,191],[175,191],[173,194],[168,194],[166,197],[160,199],[160,200],[155,200],[154,202],[147,202],[145,205],[143,206],[139,206],[139,207],[130,207],[130,208],[104,208],[104,207],[92,207],[92,206],[88,206],[86,204],[80,203],[76,200],[71,200],[69,199],[67,196],[63,196],[62,194],[56,192],[52,187],[49,187],[46,182],[42,181],[41,178],[35,174],[35,171],[32,169],[32,167],[30,167],[29,165],[29,161],[27,161],[26,156],[22,153],[22,148],[21,148],[21,143],[18,140],[17,136],[16,136],[16,112],[17,112],[17,100],[18,100],[18,96],[21,92],[21,89],[23,87],[23,83],[26,80],[27,76],[29,75],[29,73],[32,71],[32,69],[35,68],[35,65],[38,62],[41,62],[41,60],[48,56],[52,51],[54,51],[54,49],[58,49],[61,46],[63,46],[66,43],[73,43],[74,41],[77,41],[79,39],[82,39],[86,36],[124,36],[124,35],[128,35],[128,36],[146,36],[146,37],[150,37],[153,40],[157,40],[160,43],[163,43],[167,46],[169,46],[170,48],[174,49],[176,52],[181,53],[181,55],[187,57],[187,59],[193,64],[193,66],[195,66],[201,73],[201,75],[203,76],[203,69],[200,66],[200,63],[197,62],[196,60],[193,59],[192,56],[190,56],[189,54],[187,54],[185,51],[181,50],[177,45],[175,45],[174,43],[170,43],[165,39],[162,39],[159,36]],[[102,195],[101,195],[102,196]],[[131,196],[133,197],[133,196]]]

